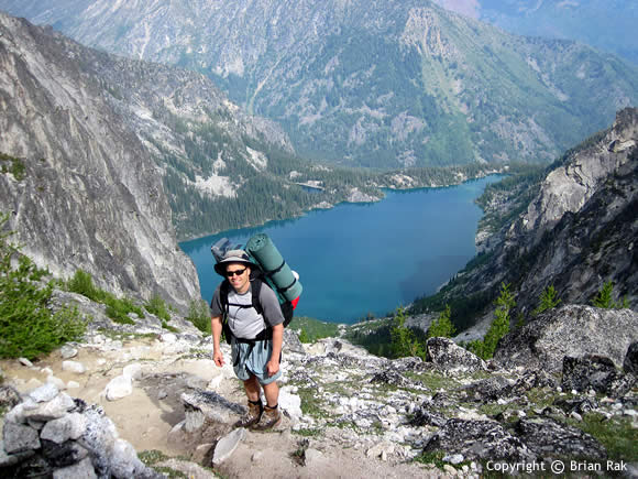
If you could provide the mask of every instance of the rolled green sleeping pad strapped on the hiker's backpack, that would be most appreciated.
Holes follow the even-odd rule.
[[[275,286],[279,296],[287,301],[295,301],[304,291],[301,283],[297,281],[290,266],[265,233],[253,236],[246,243],[246,252],[253,257],[262,271]]]

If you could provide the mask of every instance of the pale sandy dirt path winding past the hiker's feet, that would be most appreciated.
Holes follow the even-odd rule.
[[[84,364],[85,373],[63,370],[59,351],[25,367],[16,360],[0,361],[6,382],[20,392],[26,392],[54,375],[65,384],[78,387],[66,393],[87,403],[98,404],[116,424],[120,437],[135,450],[160,450],[168,457],[189,457],[182,444],[168,440],[170,429],[184,417],[180,394],[193,388],[215,390],[232,402],[243,404],[245,399],[230,367],[216,368],[205,353],[198,357],[170,355],[166,345],[146,339],[118,344],[112,350],[78,347],[72,358]],[[135,381],[132,394],[118,401],[108,401],[103,394],[110,380],[131,363],[142,366],[142,375]],[[336,437],[341,429],[326,431],[321,437],[305,437],[292,431],[293,422],[283,423],[270,432],[246,432],[232,456],[218,467],[227,478],[424,478],[440,477],[438,469],[416,462],[381,460],[367,457],[366,450],[344,447]],[[334,436],[334,437],[332,437]],[[200,477],[210,477],[199,470]],[[197,473],[190,473],[196,477]]]

